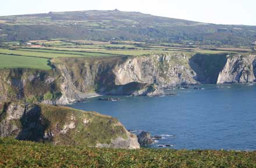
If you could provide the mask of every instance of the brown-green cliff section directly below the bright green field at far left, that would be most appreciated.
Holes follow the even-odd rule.
[[[52,101],[61,97],[59,75],[31,69],[0,70],[0,101]]]

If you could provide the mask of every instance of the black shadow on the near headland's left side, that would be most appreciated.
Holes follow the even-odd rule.
[[[16,139],[44,141],[44,133],[49,125],[49,121],[42,116],[39,105],[33,105],[30,109],[26,107],[20,122],[22,123],[22,130]]]

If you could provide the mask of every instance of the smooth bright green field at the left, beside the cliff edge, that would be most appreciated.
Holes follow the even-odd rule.
[[[51,67],[49,67],[47,64],[48,59],[0,54],[0,69],[33,68],[40,70],[51,70]]]

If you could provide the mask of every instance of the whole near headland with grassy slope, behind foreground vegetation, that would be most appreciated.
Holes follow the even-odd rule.
[[[0,137],[86,147],[140,147],[137,137],[111,116],[44,104],[5,103]]]

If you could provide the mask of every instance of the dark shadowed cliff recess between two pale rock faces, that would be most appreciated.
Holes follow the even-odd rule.
[[[201,83],[216,84],[219,73],[227,63],[227,54],[197,53],[189,60],[190,67],[197,74],[194,79]]]

